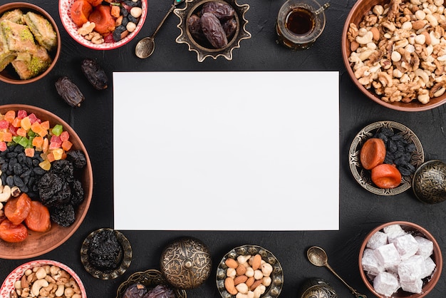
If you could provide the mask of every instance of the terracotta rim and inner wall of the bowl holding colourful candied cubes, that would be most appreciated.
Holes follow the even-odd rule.
[[[28,237],[22,242],[10,243],[0,240],[0,258],[2,259],[27,259],[30,257],[37,257],[43,255],[46,252],[54,250],[56,247],[66,242],[71,235],[78,230],[78,227],[83,222],[85,215],[87,215],[88,207],[90,207],[91,197],[93,195],[93,170],[90,163],[87,150],[83,145],[81,138],[77,135],[76,131],[68,125],[62,118],[59,118],[53,113],[37,108],[35,106],[27,105],[6,105],[0,106],[0,113],[4,114],[9,110],[19,111],[24,110],[29,113],[34,113],[38,118],[42,120],[49,120],[51,127],[56,124],[63,125],[63,129],[70,134],[70,141],[73,143],[72,150],[82,150],[85,154],[87,164],[83,169],[83,175],[81,177],[81,183],[84,191],[84,200],[76,209],[76,221],[69,227],[61,227],[54,222],[51,222],[51,230],[48,232],[33,232],[28,230]]]

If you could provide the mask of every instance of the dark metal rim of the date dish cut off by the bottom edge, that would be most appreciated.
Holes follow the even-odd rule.
[[[162,276],[162,273],[155,269],[148,269],[144,272],[135,272],[128,279],[120,284],[118,291],[116,291],[116,298],[123,298],[125,290],[130,284],[140,282],[145,287],[156,287],[157,284],[169,284],[167,280]],[[183,289],[174,289],[176,298],[187,298],[186,291]]]

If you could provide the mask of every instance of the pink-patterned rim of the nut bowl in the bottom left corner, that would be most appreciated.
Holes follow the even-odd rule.
[[[11,291],[14,289],[14,283],[21,279],[22,276],[24,276],[27,269],[33,269],[36,267],[43,267],[43,266],[57,266],[60,269],[65,270],[68,272],[68,274],[73,277],[73,279],[76,281],[76,284],[78,285],[79,291],[81,292],[82,298],[87,298],[87,292],[85,291],[85,287],[83,286],[83,283],[81,279],[78,277],[78,274],[73,271],[70,267],[68,267],[66,264],[62,264],[61,262],[53,261],[53,260],[35,260],[31,262],[27,262],[25,264],[21,264],[19,267],[14,269],[8,277],[4,280],[3,284],[1,285],[0,289],[0,296],[1,297],[10,297]],[[20,297],[20,296],[19,296]]]

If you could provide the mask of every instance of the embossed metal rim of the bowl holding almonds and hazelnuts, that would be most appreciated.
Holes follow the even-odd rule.
[[[284,272],[282,270],[279,260],[271,253],[269,250],[264,249],[258,245],[242,245],[235,247],[229,251],[222,260],[219,262],[217,267],[217,289],[223,298],[233,298],[231,294],[227,292],[224,288],[224,279],[226,278],[227,265],[224,263],[228,258],[237,259],[239,255],[261,255],[261,259],[268,262],[273,267],[273,272],[271,273],[271,284],[266,287],[266,291],[261,295],[261,298],[276,298],[279,297],[281,289],[284,285]]]

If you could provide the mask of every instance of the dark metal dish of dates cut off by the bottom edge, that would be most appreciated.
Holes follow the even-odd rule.
[[[187,298],[187,293],[184,289],[170,286],[162,273],[157,269],[148,269],[131,274],[125,282],[120,284],[116,291],[116,298],[137,298],[143,296]]]

